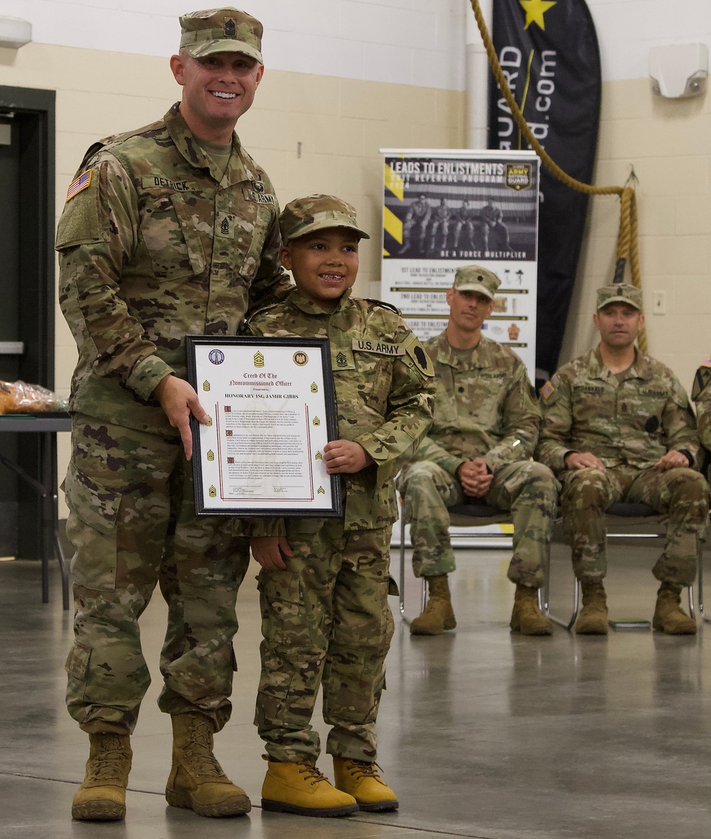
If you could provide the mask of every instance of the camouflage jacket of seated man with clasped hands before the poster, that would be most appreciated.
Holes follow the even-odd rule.
[[[415,460],[433,461],[450,475],[482,457],[492,472],[532,456],[541,412],[520,358],[502,344],[481,337],[463,360],[447,333],[425,342],[435,366],[437,395],[431,430]]]

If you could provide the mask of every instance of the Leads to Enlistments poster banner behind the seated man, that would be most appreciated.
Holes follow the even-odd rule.
[[[501,279],[484,335],[525,362],[536,357],[538,158],[533,152],[381,149],[381,297],[421,340],[447,326],[445,297],[460,265]]]

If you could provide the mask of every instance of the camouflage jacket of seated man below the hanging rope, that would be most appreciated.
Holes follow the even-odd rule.
[[[619,381],[619,378],[622,381]],[[599,347],[566,364],[541,390],[543,425],[536,459],[555,474],[569,451],[589,451],[605,466],[654,466],[667,451],[698,461],[696,421],[672,371],[635,350],[635,362],[615,375]]]

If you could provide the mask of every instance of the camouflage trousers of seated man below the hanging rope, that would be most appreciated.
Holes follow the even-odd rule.
[[[560,479],[563,526],[578,580],[601,580],[607,573],[605,510],[625,501],[669,516],[667,544],[652,573],[661,582],[691,586],[708,519],[708,483],[699,472],[612,466],[606,472],[569,470]]]

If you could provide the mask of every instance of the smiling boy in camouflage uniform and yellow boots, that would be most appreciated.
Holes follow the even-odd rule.
[[[330,195],[292,201],[280,216],[281,261],[295,291],[258,311],[250,331],[328,337],[338,433],[325,446],[341,474],[343,519],[265,519],[252,539],[262,566],[262,675],[255,723],[269,758],[264,810],[342,816],[395,810],[375,767],[375,717],[393,633],[389,538],[400,458],[431,423],[431,362],[389,306],[350,296],[358,272],[353,207]],[[323,686],[335,787],[316,769],[311,714]]]

